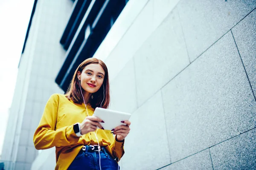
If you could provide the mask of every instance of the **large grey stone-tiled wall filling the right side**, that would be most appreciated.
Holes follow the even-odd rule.
[[[116,74],[123,170],[256,169],[255,0],[180,0]]]

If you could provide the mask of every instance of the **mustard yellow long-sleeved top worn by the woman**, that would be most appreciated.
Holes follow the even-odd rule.
[[[94,109],[87,105],[89,116],[93,115]],[[79,105],[67,99],[63,94],[53,94],[44,109],[44,114],[35,130],[34,144],[36,149],[48,149],[56,147],[55,170],[66,170],[83,145],[97,144],[93,132],[77,137],[73,130],[73,124],[83,122],[87,113],[85,105]],[[97,137],[99,145],[115,158],[124,154],[124,143],[117,142],[110,130],[99,129]]]

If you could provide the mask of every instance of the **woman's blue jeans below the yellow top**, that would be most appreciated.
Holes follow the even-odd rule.
[[[99,153],[102,170],[119,170],[117,162],[107,153],[105,148],[99,152],[92,151],[89,146],[86,146],[85,150],[81,150],[77,154],[68,170],[100,170]]]

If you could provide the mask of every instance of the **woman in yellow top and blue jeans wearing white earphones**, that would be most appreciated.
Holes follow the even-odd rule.
[[[96,58],[84,60],[67,93],[49,98],[35,131],[35,148],[56,147],[55,170],[118,170],[131,122],[124,120],[126,126],[104,130],[99,123],[104,120],[93,116],[93,111],[108,108],[109,102],[106,65]]]

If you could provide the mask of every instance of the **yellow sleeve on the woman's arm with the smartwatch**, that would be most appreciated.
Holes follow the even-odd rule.
[[[73,125],[61,127],[55,130],[57,123],[59,96],[53,94],[45,108],[41,121],[34,134],[34,144],[36,149],[48,149],[54,146],[68,146],[76,144],[79,137],[73,130]]]

